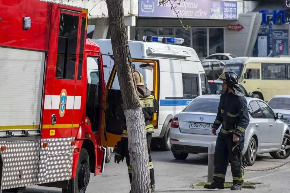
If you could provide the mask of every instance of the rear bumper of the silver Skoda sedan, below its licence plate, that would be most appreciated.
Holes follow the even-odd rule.
[[[207,153],[209,145],[216,141],[216,135],[181,133],[179,128],[170,128],[171,147],[184,153]]]

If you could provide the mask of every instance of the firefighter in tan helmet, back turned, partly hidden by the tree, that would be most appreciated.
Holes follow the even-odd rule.
[[[148,90],[148,88],[145,86],[142,74],[139,71],[134,70],[134,76],[135,76],[136,85],[137,85],[137,94],[141,102],[141,107],[142,107],[144,119],[145,119],[147,148],[148,148],[148,154],[149,154],[149,172],[150,172],[150,180],[151,180],[150,184],[151,184],[151,190],[152,192],[154,192],[155,191],[154,169],[153,169],[153,161],[150,155],[150,152],[151,152],[150,144],[151,144],[151,139],[152,139],[152,133],[154,133],[153,131],[154,126],[150,124],[149,121],[153,119],[154,113],[157,112],[157,109],[159,107],[159,102],[152,95],[151,91]],[[123,129],[122,138],[117,143],[115,163],[116,161],[117,163],[119,163],[120,161],[123,161],[124,157],[126,158],[129,179],[130,179],[130,183],[132,184],[132,169],[130,166],[130,157],[129,157],[129,150],[128,150],[128,131],[126,127],[126,118],[124,116],[124,110],[122,106],[123,106],[123,101],[121,98],[120,105],[118,106],[116,110],[116,115],[119,119],[124,120],[125,124],[122,126],[122,129]]]

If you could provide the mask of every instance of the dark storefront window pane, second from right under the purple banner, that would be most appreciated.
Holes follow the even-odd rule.
[[[192,28],[192,48],[199,58],[207,57],[206,28]]]

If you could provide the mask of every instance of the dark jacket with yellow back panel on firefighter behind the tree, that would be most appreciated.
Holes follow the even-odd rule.
[[[155,97],[152,95],[151,91],[149,91],[147,89],[147,87],[145,85],[142,86],[137,86],[137,91],[138,91],[138,96],[140,99],[140,103],[141,103],[141,107],[142,107],[142,111],[144,114],[144,121],[145,121],[145,130],[146,133],[154,133],[154,126],[152,124],[150,124],[150,120],[153,119],[153,115],[155,112],[157,112],[157,109],[159,107],[159,102],[155,99]],[[120,106],[123,107],[123,100],[122,97],[119,101]],[[117,117],[124,120],[125,125],[123,125],[122,129],[122,137],[123,138],[127,138],[128,137],[128,131],[127,131],[127,127],[126,127],[126,118],[124,116],[124,110],[122,108],[122,112],[119,108],[119,110],[117,110]]]

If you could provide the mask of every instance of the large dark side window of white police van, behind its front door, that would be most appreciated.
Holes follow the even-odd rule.
[[[194,99],[198,94],[198,74],[182,73],[183,99]]]

